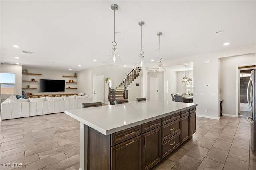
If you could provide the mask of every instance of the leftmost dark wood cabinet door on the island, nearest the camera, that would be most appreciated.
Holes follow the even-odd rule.
[[[111,147],[112,170],[141,169],[141,135]]]

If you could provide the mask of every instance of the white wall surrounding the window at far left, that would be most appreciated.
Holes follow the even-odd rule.
[[[15,74],[15,95],[21,95],[21,73],[22,66],[16,64],[6,64],[3,63],[0,65],[0,73],[13,73]],[[1,93],[0,93],[1,94]],[[10,95],[1,95],[0,98],[8,98]]]

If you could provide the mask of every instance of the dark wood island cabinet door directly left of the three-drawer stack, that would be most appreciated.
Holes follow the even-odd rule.
[[[161,127],[142,134],[142,169],[149,170],[161,160]]]

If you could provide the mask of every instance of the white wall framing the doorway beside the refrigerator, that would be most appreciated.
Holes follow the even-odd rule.
[[[254,65],[255,53],[220,59],[220,98],[223,99],[222,114],[236,115],[236,69],[240,65]]]

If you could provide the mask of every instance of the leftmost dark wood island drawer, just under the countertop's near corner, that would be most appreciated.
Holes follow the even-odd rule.
[[[111,134],[111,146],[141,134],[141,125]]]

